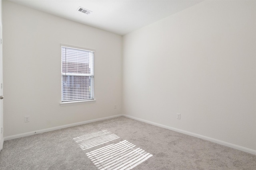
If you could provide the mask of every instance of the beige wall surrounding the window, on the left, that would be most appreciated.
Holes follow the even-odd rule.
[[[121,113],[121,36],[8,1],[3,25],[4,137]],[[96,51],[96,103],[60,106],[61,43]]]

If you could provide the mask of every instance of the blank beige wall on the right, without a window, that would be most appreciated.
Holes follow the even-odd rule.
[[[255,57],[256,2],[201,2],[123,37],[123,113],[256,150]]]

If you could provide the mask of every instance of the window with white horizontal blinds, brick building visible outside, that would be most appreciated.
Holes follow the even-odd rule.
[[[94,51],[61,47],[62,102],[94,100]]]

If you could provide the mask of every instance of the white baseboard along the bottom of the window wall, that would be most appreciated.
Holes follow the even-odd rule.
[[[108,117],[103,117],[103,118],[99,118],[99,119],[92,119],[92,120],[88,120],[88,121],[82,121],[82,122],[72,123],[72,124],[63,125],[63,126],[52,127],[52,128],[48,128],[48,129],[42,129],[42,130],[38,130],[38,131],[32,131],[32,132],[22,133],[22,134],[18,134],[18,135],[12,135],[12,136],[8,136],[8,137],[4,137],[4,141],[8,141],[8,140],[16,139],[16,138],[20,138],[20,137],[26,137],[26,136],[30,136],[30,135],[35,135],[35,134],[38,134],[38,133],[44,133],[44,132],[54,131],[54,130],[58,130],[58,129],[63,129],[63,128],[66,128],[66,127],[84,125],[84,124],[92,123],[92,122],[96,122],[96,121],[112,119],[112,118],[120,117],[120,116],[123,116],[123,115],[108,116]]]

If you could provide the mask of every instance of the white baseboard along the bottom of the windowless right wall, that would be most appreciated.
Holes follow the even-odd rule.
[[[155,125],[155,126],[158,126],[158,127],[163,127],[165,129],[170,129],[172,131],[176,131],[176,132],[179,132],[179,133],[184,133],[186,135],[190,135],[190,136],[193,136],[193,137],[197,137],[197,138],[200,138],[200,139],[204,139],[206,141],[211,141],[211,142],[214,142],[214,143],[218,143],[220,145],[224,145],[226,147],[230,147],[230,148],[234,148],[234,149],[237,149],[237,150],[242,150],[244,152],[248,152],[250,154],[255,154],[256,155],[256,150],[252,150],[252,149],[248,149],[246,147],[241,147],[241,146],[238,146],[238,145],[234,145],[232,143],[227,143],[227,142],[224,142],[224,141],[220,141],[218,139],[213,139],[213,138],[210,138],[210,137],[206,137],[206,136],[203,136],[203,135],[198,135],[196,133],[192,133],[192,132],[189,132],[189,131],[184,131],[184,130],[181,130],[181,129],[176,129],[174,127],[170,127],[170,126],[166,126],[166,125],[162,125],[162,124],[159,124],[159,123],[154,123],[152,121],[147,121],[147,120],[144,120],[144,119],[140,119],[140,118],[137,118],[137,117],[133,117],[133,116],[130,116],[130,115],[122,115],[124,117],[128,117],[130,119],[134,119],[134,120],[137,120],[137,121],[142,121],[144,123],[148,123],[148,124],[151,124],[151,125]]]

